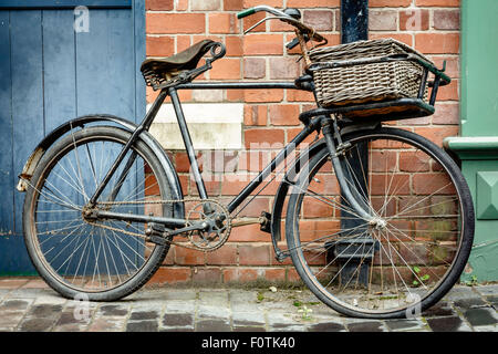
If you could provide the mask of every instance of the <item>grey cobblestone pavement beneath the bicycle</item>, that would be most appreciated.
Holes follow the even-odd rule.
[[[365,321],[338,314],[308,290],[145,288],[118,302],[85,303],[40,279],[0,279],[2,332],[498,332],[497,309],[498,284],[457,285],[415,320]]]

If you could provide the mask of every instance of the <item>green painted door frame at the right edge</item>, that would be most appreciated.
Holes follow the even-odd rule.
[[[471,4],[470,4],[471,3]],[[460,136],[445,139],[458,155],[473,194],[476,235],[463,281],[498,280],[498,1],[461,1]]]

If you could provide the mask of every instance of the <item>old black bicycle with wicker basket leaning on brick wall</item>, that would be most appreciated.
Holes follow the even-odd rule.
[[[277,260],[290,257],[304,284],[346,315],[403,317],[436,303],[458,281],[474,237],[468,186],[442,148],[384,124],[433,114],[438,87],[450,81],[444,67],[390,40],[323,46],[326,40],[300,21],[297,9],[260,6],[238,18],[259,11],[270,14],[261,21],[294,27],[287,46],[299,45],[304,61],[294,82],[194,83],[225,54],[224,44],[204,40],[142,64],[159,94],[139,125],[111,115],[79,117],[30,156],[18,185],[25,191],[25,244],[40,275],[61,295],[122,299],[151,279],[172,244],[214,251],[232,228],[250,222],[271,235]],[[392,72],[405,75],[402,94],[378,92]],[[370,74],[377,79],[361,77]],[[304,90],[317,101],[317,108],[297,117],[302,132],[228,205],[206,191],[177,93],[221,88]],[[173,164],[148,133],[167,96],[198,198],[185,198]],[[297,148],[313,134],[313,144]],[[237,218],[283,162],[271,212]]]

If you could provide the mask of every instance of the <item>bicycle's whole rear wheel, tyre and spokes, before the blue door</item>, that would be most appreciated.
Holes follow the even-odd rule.
[[[66,298],[112,301],[144,285],[169,246],[145,241],[143,222],[83,218],[84,206],[129,139],[131,133],[98,126],[72,132],[51,147],[31,178],[23,210],[28,252],[40,275]],[[172,192],[160,163],[146,144],[132,146],[97,207],[172,217]],[[111,201],[111,202],[110,202]]]

